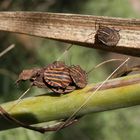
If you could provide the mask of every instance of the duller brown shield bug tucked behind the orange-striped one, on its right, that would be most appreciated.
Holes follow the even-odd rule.
[[[78,88],[84,88],[87,85],[87,74],[86,72],[79,66],[71,66],[69,68],[70,76],[74,82],[74,84]]]

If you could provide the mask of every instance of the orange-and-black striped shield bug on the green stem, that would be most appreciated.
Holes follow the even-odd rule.
[[[68,93],[75,90],[69,73],[69,67],[61,61],[55,61],[44,71],[44,81],[56,93]]]

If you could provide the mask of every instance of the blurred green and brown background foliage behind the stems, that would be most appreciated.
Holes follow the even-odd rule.
[[[42,11],[93,14],[139,18],[140,0],[1,0],[1,11]],[[86,39],[85,39],[86,40]],[[41,67],[55,61],[69,44],[27,35],[0,32],[0,52],[10,44],[16,47],[0,58],[0,103],[17,99],[28,87],[29,83],[15,85],[18,74],[23,69]],[[67,64],[79,64],[88,71],[98,63],[110,58],[125,58],[124,55],[91,50],[73,46],[63,57]],[[138,63],[132,58],[131,63]],[[110,63],[95,69],[89,75],[89,83],[105,79],[117,66]],[[46,90],[32,88],[27,96],[43,94]],[[0,132],[0,140],[139,140],[140,110],[138,107],[91,114],[59,132],[45,135],[23,128]]]

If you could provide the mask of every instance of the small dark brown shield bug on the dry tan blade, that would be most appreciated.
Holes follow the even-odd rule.
[[[116,46],[120,40],[120,30],[99,26],[95,38],[107,46]]]

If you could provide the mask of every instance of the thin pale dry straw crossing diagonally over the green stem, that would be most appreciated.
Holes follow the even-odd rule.
[[[74,116],[86,105],[86,103],[94,96],[97,91],[114,75],[126,62],[128,62],[130,58],[128,57],[123,63],[121,63],[97,88],[94,92],[92,92],[88,98],[83,102],[83,104],[76,109],[75,112],[71,114],[71,116],[65,121],[63,125],[60,125],[57,131],[59,131],[62,127],[64,127],[67,123],[74,119]]]

